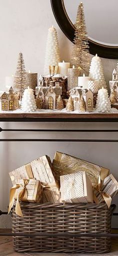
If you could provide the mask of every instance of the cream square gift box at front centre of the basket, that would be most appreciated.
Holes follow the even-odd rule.
[[[60,176],[63,203],[93,203],[92,184],[85,172]]]

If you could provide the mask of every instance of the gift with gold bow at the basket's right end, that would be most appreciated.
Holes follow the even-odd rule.
[[[98,180],[98,184],[93,189],[93,199],[95,203],[105,201],[108,208],[111,204],[111,199],[118,193],[118,183],[112,174],[108,175],[103,181]]]

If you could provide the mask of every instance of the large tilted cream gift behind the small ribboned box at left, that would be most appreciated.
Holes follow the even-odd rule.
[[[43,187],[42,202],[58,203],[60,201],[59,183],[53,171],[52,163],[47,155],[41,156],[9,173],[12,185],[21,179],[35,178]]]

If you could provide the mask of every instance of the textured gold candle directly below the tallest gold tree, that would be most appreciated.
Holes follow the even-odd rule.
[[[67,69],[67,91],[78,86],[78,76],[80,71],[78,68],[68,68]]]

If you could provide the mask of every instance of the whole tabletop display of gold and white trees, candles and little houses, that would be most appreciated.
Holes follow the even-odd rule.
[[[84,10],[80,3],[70,62],[61,61],[57,32],[52,26],[48,29],[43,74],[39,74],[37,82],[37,72],[26,72],[20,52],[13,76],[13,96],[9,96],[9,92],[0,94],[1,111],[76,114],[116,112],[114,108],[118,109],[118,64],[116,70],[113,70],[112,80],[109,81],[108,98],[101,59],[96,54],[90,63],[89,57]],[[12,77],[6,77],[5,81],[9,90]]]

